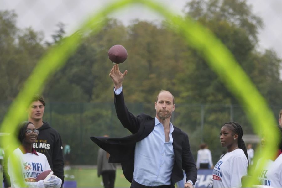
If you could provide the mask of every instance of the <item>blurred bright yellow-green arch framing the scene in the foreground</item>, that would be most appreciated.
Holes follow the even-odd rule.
[[[132,4],[146,6],[164,16],[170,23],[168,25],[170,29],[180,34],[192,48],[202,52],[201,54],[203,54],[210,68],[217,73],[225,86],[243,106],[255,132],[261,135],[262,131],[264,131],[266,149],[263,155],[257,156],[256,159],[274,156],[277,150],[274,143],[279,139],[274,126],[269,126],[276,124],[274,115],[269,110],[268,104],[253,85],[252,81],[250,81],[240,65],[234,60],[232,54],[208,29],[205,29],[191,19],[183,19],[176,16],[167,8],[152,0],[120,0],[109,4],[94,14],[89,21],[83,23],[78,32],[63,39],[59,45],[50,49],[34,68],[24,87],[11,104],[1,123],[1,132],[14,135],[17,131],[15,128],[18,123],[26,119],[26,109],[31,101],[31,96],[42,92],[47,77],[52,76],[56,70],[60,69],[70,54],[76,51],[84,40],[84,33],[87,33],[89,30],[94,34],[97,33],[105,24],[104,18],[108,14]],[[230,74],[231,71],[232,74]],[[15,136],[10,136],[6,139],[1,138],[0,144],[2,147],[7,145],[12,146],[7,151],[10,154],[13,152],[11,148],[18,147],[16,140]],[[265,160],[261,163],[260,169],[262,169],[264,162]],[[13,164],[16,164],[16,161]],[[260,170],[256,172],[252,170],[251,174],[254,175],[252,181],[243,186],[250,187],[255,182],[255,177],[259,175],[259,172]],[[17,176],[20,178],[19,172]]]

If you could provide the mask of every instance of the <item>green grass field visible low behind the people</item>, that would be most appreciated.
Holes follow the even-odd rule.
[[[71,170],[66,170],[64,174],[74,175],[75,178],[68,177],[65,178],[65,181],[76,181],[77,187],[103,187],[101,185],[102,177],[97,177],[96,168],[72,168]],[[0,187],[2,187],[2,173],[0,181]],[[117,169],[115,187],[130,187],[130,183],[125,179],[121,168]]]

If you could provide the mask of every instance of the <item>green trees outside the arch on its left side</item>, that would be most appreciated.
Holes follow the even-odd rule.
[[[17,15],[0,11],[0,100],[13,100],[44,52],[43,34],[16,27]]]

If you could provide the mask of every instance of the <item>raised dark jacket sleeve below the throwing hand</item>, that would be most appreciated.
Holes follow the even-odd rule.
[[[124,128],[127,128],[132,134],[137,133],[140,127],[139,119],[128,111],[125,106],[123,91],[119,94],[115,94],[115,107],[119,121]]]

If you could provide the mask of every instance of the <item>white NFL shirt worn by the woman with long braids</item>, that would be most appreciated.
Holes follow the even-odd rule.
[[[242,149],[227,152],[215,165],[213,187],[241,187],[241,178],[247,175],[248,159]]]

